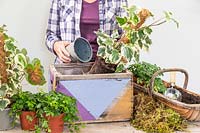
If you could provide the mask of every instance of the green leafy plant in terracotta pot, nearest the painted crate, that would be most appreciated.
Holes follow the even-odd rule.
[[[64,122],[69,132],[79,131],[80,124],[75,124],[79,120],[75,98],[56,91],[38,94],[37,98],[37,115],[40,121],[37,131],[45,129],[50,133],[62,133]]]

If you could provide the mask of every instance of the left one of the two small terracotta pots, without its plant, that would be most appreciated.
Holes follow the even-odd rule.
[[[27,116],[32,117],[33,120],[28,120]],[[38,118],[36,117],[36,113],[32,111],[22,111],[20,115],[20,123],[22,130],[35,130],[35,125],[38,124]]]

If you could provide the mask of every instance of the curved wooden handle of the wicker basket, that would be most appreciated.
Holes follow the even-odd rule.
[[[149,96],[152,96],[152,91],[153,91],[153,88],[154,88],[154,82],[155,82],[155,78],[161,74],[161,73],[164,73],[164,72],[175,72],[175,71],[179,71],[179,72],[182,72],[184,73],[185,75],[185,81],[184,81],[184,84],[183,84],[183,88],[186,89],[187,88],[187,85],[188,85],[188,72],[184,69],[181,69],[181,68],[168,68],[168,69],[162,69],[162,70],[158,70],[157,72],[155,72],[153,74],[153,76],[151,77],[151,80],[150,80],[150,87],[148,87],[148,94]]]

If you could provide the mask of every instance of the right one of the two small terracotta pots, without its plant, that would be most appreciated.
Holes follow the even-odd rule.
[[[64,113],[58,116],[45,116],[48,120],[49,129],[51,133],[63,133],[64,130]]]

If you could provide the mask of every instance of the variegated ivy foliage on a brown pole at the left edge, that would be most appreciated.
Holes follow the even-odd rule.
[[[0,26],[0,110],[11,104],[10,98],[22,89],[25,78],[31,85],[46,81],[40,60],[30,61],[26,49],[19,49],[14,38],[7,35],[5,25]]]

